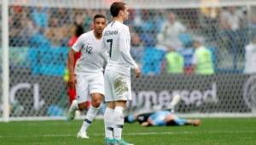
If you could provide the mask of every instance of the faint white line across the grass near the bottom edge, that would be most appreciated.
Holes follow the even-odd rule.
[[[201,131],[201,132],[194,132],[194,131],[178,131],[178,132],[135,132],[135,133],[124,133],[125,136],[150,136],[150,135],[184,135],[184,134],[239,134],[239,133],[256,133],[256,131]],[[59,134],[59,135],[35,135],[35,136],[17,136],[15,137],[62,137],[62,136],[76,136],[75,134]],[[104,136],[101,133],[95,133],[91,136]],[[14,137],[14,136],[0,136],[1,138],[6,137]]]

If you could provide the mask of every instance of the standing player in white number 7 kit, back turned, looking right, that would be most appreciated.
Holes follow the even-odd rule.
[[[115,2],[110,7],[113,21],[103,31],[103,47],[108,50],[108,64],[105,68],[105,102],[108,107],[104,114],[105,144],[131,145],[122,138],[125,103],[131,100],[131,69],[136,77],[140,69],[130,55],[131,35],[129,27],[123,24],[128,19],[125,3]]]

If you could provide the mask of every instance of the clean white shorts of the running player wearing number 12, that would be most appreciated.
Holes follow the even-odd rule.
[[[76,92],[79,103],[90,100],[90,94],[100,93],[104,96],[104,78],[101,73],[76,76]]]

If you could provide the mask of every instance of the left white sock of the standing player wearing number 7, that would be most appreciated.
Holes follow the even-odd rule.
[[[104,113],[105,136],[113,139],[113,109],[107,107]]]

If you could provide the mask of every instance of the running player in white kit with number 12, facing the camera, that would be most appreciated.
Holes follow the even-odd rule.
[[[82,34],[68,54],[69,85],[75,87],[77,91],[77,100],[72,102],[68,110],[68,118],[74,119],[76,110],[86,109],[86,102],[91,96],[91,107],[78,133],[78,137],[81,138],[89,138],[86,131],[95,119],[105,94],[103,66],[107,62],[108,54],[102,49],[102,31],[106,23],[104,15],[96,14],[93,22],[94,29]],[[73,67],[75,55],[79,50],[82,55]]]

